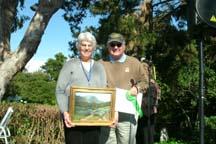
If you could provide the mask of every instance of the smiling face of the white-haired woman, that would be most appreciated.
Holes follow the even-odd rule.
[[[81,41],[79,47],[80,57],[82,61],[89,62],[93,52],[93,45],[90,41]]]

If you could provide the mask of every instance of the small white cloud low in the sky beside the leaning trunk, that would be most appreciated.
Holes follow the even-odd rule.
[[[45,60],[33,60],[31,59],[25,68],[27,69],[28,72],[36,72],[38,70],[41,70],[41,66],[45,63]]]

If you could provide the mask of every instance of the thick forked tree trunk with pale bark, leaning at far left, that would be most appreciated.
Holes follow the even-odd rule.
[[[36,53],[50,18],[61,8],[63,0],[39,1],[39,6],[22,41],[16,51],[12,53],[9,44],[10,28],[17,3],[18,0],[0,0],[0,101],[10,80],[25,67]]]

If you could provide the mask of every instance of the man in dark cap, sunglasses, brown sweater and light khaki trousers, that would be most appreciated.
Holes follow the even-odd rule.
[[[111,33],[107,47],[109,56],[99,62],[105,67],[108,87],[125,89],[134,97],[139,92],[145,92],[148,87],[147,75],[141,62],[125,54],[124,37],[119,33]],[[115,123],[101,129],[101,144],[135,144],[136,129],[137,116],[116,111]]]

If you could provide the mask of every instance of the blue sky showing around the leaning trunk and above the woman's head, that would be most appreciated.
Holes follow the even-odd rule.
[[[30,6],[35,2],[37,1],[26,0],[25,9],[21,12],[23,14],[27,14],[30,17],[30,20],[34,15],[34,12],[30,9]],[[55,54],[59,52],[62,52],[66,57],[71,54],[71,52],[69,51],[68,42],[72,40],[72,37],[69,25],[62,17],[63,13],[63,10],[59,10],[50,19],[36,54],[26,66],[29,71],[37,70],[45,61],[47,61],[49,58],[54,58]],[[25,31],[28,28],[30,20],[25,23],[22,29],[16,31],[11,35],[12,51],[17,49],[20,41],[24,36]],[[84,28],[85,26],[90,25],[97,26],[97,18],[88,16],[84,19],[81,26]]]

